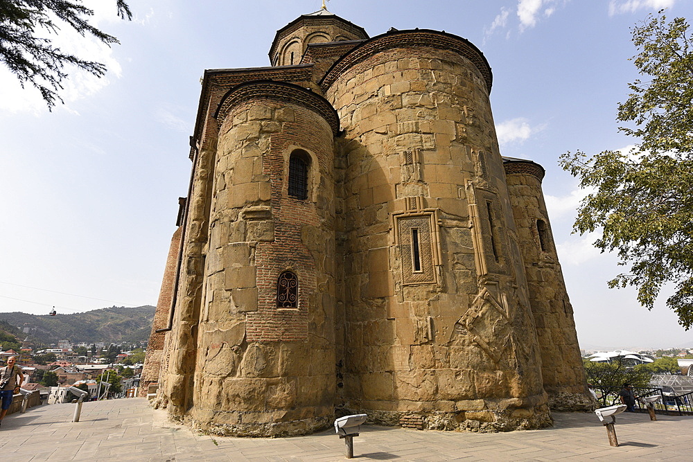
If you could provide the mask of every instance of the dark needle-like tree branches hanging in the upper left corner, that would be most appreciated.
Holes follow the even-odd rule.
[[[125,0],[116,0],[116,10],[122,19],[132,19]],[[17,76],[24,88],[30,83],[41,92],[49,109],[55,101],[62,103],[58,91],[67,78],[65,66],[75,66],[97,77],[106,72],[100,62],[83,60],[53,46],[51,39],[40,37],[44,31],[57,34],[67,24],[82,37],[91,35],[104,44],[118,39],[89,24],[94,10],[82,5],[82,0],[0,0],[0,61]]]

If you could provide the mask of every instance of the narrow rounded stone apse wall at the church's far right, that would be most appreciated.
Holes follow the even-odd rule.
[[[530,161],[511,161],[505,170],[550,407],[590,411],[595,403],[587,390],[572,306],[541,190],[543,168]]]

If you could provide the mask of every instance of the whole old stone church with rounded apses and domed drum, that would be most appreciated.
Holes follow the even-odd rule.
[[[322,8],[269,55],[204,71],[142,376],[155,405],[240,436],[588,409],[544,170],[501,157],[481,51]]]

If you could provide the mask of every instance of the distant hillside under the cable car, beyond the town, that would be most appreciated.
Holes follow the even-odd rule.
[[[20,330],[32,328],[29,332],[30,339],[40,344],[55,344],[60,339],[68,339],[73,343],[132,343],[149,339],[154,310],[153,306],[145,305],[137,308],[113,306],[55,316],[0,312],[0,321],[7,321]]]

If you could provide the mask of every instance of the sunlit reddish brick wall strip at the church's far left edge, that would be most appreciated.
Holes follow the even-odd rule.
[[[157,310],[154,312],[154,321],[152,323],[152,333],[149,335],[147,354],[144,359],[144,366],[139,382],[139,396],[143,398],[147,396],[149,385],[159,382],[159,371],[161,370],[161,359],[164,357],[164,340],[166,332],[157,332],[157,330],[168,326],[168,315],[170,313],[171,299],[173,299],[175,269],[178,264],[182,230],[182,226],[176,229],[175,233],[173,233],[173,238],[171,238],[170,247],[168,248],[164,279],[161,281]]]

